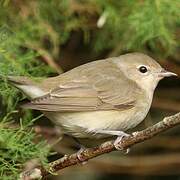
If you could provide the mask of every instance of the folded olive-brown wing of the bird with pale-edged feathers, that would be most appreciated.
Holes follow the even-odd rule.
[[[105,65],[98,64],[96,68],[89,66],[84,70],[79,68],[74,71],[74,78],[68,78],[72,76],[72,71],[66,73],[66,82],[63,82],[62,78],[58,87],[47,95],[25,104],[24,107],[59,112],[132,108],[135,104],[137,85],[127,79],[114,64],[105,62]]]

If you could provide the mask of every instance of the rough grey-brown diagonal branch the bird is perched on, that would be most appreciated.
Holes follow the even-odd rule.
[[[137,143],[141,143],[147,139],[150,139],[153,136],[156,136],[159,133],[168,130],[178,124],[180,124],[180,113],[165,117],[162,121],[151,127],[148,127],[142,131],[134,132],[129,137],[124,137],[120,142],[120,146],[122,147],[122,149],[127,149]],[[102,154],[109,153],[115,150],[114,140],[107,141],[97,147],[85,149],[80,154],[81,158],[78,158],[77,153],[74,153],[49,163],[48,168],[46,169],[44,169],[43,167],[36,167],[31,171],[25,171],[20,175],[21,180],[44,178],[47,175],[56,173],[63,168],[86,162],[96,156],[100,156]],[[81,159],[81,161],[79,159]]]

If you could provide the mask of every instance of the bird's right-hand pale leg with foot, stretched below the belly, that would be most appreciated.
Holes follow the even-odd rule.
[[[124,137],[129,137],[130,135],[125,133],[124,131],[113,131],[113,130],[96,130],[96,133],[101,133],[101,134],[108,134],[108,135],[113,135],[113,136],[117,136],[117,139],[114,141],[114,147],[119,150],[122,151],[124,150],[121,147],[121,141]],[[126,153],[129,153],[130,149],[127,148],[126,149]]]

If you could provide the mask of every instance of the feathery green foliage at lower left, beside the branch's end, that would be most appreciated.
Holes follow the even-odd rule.
[[[31,122],[33,120],[36,119]],[[33,142],[35,134],[28,128],[30,124],[21,122],[21,126],[15,128],[12,122],[10,113],[0,123],[0,177],[3,180],[19,179],[24,164],[30,160],[38,159],[45,165],[49,152],[45,141]]]

